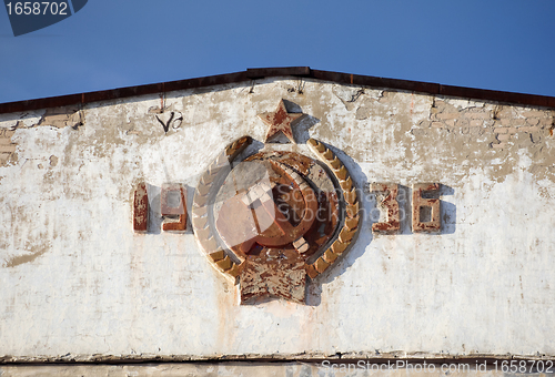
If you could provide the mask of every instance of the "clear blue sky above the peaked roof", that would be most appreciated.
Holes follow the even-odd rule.
[[[555,1],[100,1],[13,37],[0,103],[243,71],[313,69],[555,96]]]

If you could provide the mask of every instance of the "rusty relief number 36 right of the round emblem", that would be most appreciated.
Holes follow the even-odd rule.
[[[441,201],[438,198],[426,198],[427,192],[437,192],[438,183],[413,184],[412,195],[412,232],[413,233],[438,233],[441,232]],[[373,183],[371,192],[383,193],[384,197],[379,207],[386,211],[386,221],[372,224],[372,232],[395,234],[401,230],[400,208],[397,202],[398,185],[394,183]]]

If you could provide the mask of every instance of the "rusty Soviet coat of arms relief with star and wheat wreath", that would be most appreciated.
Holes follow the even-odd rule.
[[[307,276],[331,268],[360,227],[357,193],[342,161],[314,139],[306,141],[311,155],[297,152],[292,126],[302,115],[283,100],[259,114],[269,128],[263,146],[254,149],[249,135],[232,142],[194,192],[194,236],[239,284],[241,304],[304,303]],[[286,144],[272,143],[279,136]]]

